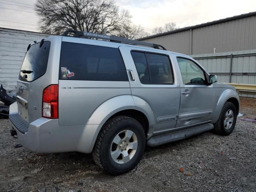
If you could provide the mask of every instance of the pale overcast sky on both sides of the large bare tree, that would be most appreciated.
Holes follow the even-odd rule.
[[[33,6],[30,6],[35,2],[36,0],[0,0],[0,27],[38,32],[38,16],[32,13]],[[116,4],[128,9],[133,16],[132,22],[141,25],[146,32],[167,22],[176,22],[181,28],[256,11],[256,0],[116,0]]]

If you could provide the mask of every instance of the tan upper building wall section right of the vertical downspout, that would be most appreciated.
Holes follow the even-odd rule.
[[[193,29],[192,54],[256,49],[256,16]]]

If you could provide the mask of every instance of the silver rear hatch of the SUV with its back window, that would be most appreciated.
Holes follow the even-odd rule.
[[[42,117],[42,92],[50,52],[50,41],[28,47],[17,82],[19,115],[28,123]]]

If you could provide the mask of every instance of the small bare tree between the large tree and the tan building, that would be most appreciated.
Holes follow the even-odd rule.
[[[141,26],[136,26],[128,22],[118,26],[118,28],[110,34],[128,39],[138,39],[147,36]]]

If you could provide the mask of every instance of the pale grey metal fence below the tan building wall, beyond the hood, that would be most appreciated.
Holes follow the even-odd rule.
[[[232,56],[231,56],[232,55]],[[215,54],[191,55],[210,74],[217,74],[218,82],[256,84],[256,49]],[[232,70],[230,81],[230,66]],[[241,94],[255,97],[256,95]]]

